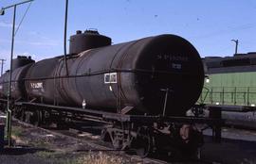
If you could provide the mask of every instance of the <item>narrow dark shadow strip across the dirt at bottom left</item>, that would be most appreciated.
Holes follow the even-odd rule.
[[[40,151],[45,152],[53,152],[44,148],[33,148],[33,147],[11,147],[11,148],[4,148],[0,152],[1,155],[12,155],[12,156],[20,156],[20,155],[26,155],[26,154],[34,154]]]

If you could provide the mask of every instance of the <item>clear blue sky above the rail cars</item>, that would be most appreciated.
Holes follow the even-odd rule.
[[[0,8],[22,0],[0,0]],[[36,60],[64,53],[64,0],[35,0],[15,36],[15,56]],[[27,5],[17,8],[16,25]],[[0,58],[9,59],[12,9],[0,17]],[[97,28],[114,43],[170,33],[202,57],[256,51],[255,0],[69,0],[67,35]],[[5,68],[9,67],[9,60]]]

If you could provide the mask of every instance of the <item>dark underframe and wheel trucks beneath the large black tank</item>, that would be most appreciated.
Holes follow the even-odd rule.
[[[1,104],[5,103],[2,101]],[[30,102],[15,102],[12,111],[13,116],[35,125],[56,123],[62,128],[65,122],[88,119],[110,123],[110,126],[102,129],[101,139],[112,142],[117,150],[134,150],[139,156],[153,153],[171,157],[198,157],[203,135],[195,124],[207,124],[212,132],[223,125],[223,120],[218,118],[123,115]],[[220,137],[213,135],[216,141],[220,141]]]

